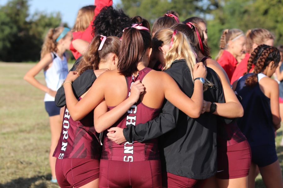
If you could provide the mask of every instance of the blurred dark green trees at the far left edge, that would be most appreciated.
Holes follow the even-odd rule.
[[[59,25],[66,24],[58,12],[30,15],[28,0],[8,1],[0,6],[0,61],[38,61],[45,34]]]

